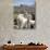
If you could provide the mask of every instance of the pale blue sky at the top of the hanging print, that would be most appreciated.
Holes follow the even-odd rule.
[[[20,5],[20,4],[32,5],[35,4],[35,0],[13,0],[13,5]]]

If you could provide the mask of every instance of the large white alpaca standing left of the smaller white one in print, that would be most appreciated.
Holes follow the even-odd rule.
[[[27,23],[27,18],[24,17],[24,14],[18,14],[17,15],[17,24],[18,28],[23,28]]]

